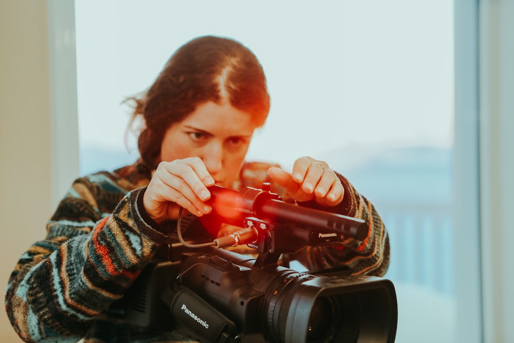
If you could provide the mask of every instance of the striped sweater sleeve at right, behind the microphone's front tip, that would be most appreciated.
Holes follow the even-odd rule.
[[[309,270],[343,267],[349,269],[353,275],[384,276],[390,257],[386,227],[373,204],[357,192],[344,176],[336,174],[344,187],[343,201],[333,208],[317,206],[315,202],[305,205],[363,219],[368,223],[367,236],[362,241],[348,238],[340,244],[309,246],[290,258],[298,260]]]

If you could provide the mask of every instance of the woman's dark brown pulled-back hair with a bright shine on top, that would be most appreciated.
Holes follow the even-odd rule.
[[[138,148],[144,163],[154,169],[166,131],[185,119],[196,107],[212,101],[229,103],[253,116],[257,127],[269,112],[264,71],[252,51],[221,37],[199,37],[182,45],[164,66],[142,98],[132,98],[144,120]]]

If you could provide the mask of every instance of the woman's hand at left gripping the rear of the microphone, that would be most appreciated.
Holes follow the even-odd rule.
[[[159,163],[143,195],[143,206],[157,223],[176,220],[180,207],[202,216],[212,208],[205,203],[214,179],[198,157]]]

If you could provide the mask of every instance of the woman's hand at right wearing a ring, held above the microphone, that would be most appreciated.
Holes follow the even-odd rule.
[[[336,206],[343,200],[341,180],[325,161],[304,156],[295,161],[292,173],[271,167],[268,174],[296,201],[314,199],[322,206]]]

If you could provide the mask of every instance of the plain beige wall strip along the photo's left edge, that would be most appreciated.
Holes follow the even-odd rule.
[[[46,3],[0,2],[0,284],[51,210]],[[30,237],[30,239],[29,239]],[[0,340],[16,341],[5,312]]]

